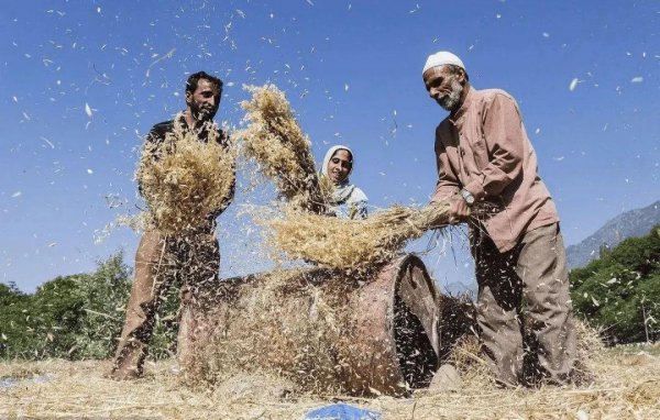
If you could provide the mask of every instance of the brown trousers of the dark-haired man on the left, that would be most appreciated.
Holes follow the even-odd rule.
[[[156,314],[167,291],[180,279],[182,308],[200,305],[198,295],[217,280],[220,250],[213,233],[166,235],[145,232],[135,254],[135,277],[127,307],[127,319],[119,340],[111,376],[117,379],[140,376],[148,350]],[[179,331],[190,333],[195,320],[185,319]],[[180,334],[179,334],[180,338]],[[189,341],[186,341],[189,343]]]

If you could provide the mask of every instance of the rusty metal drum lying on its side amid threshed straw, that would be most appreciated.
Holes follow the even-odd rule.
[[[411,389],[429,384],[442,350],[443,297],[419,257],[414,254],[397,257],[376,267],[366,277],[323,268],[290,270],[290,274],[286,290],[280,291],[278,301],[274,302],[276,308],[264,308],[265,311],[277,311],[276,316],[265,319],[278,322],[282,331],[262,334],[267,339],[243,352],[249,353],[251,349],[264,352],[264,349],[276,346],[278,350],[285,347],[290,352],[290,358],[297,358],[309,349],[297,347],[296,340],[290,336],[297,332],[288,327],[307,319],[312,322],[312,318],[314,322],[319,322],[314,313],[318,302],[323,301],[332,307],[333,328],[340,331],[327,350],[316,350],[320,352],[316,356],[340,362],[331,374],[317,380],[336,382],[353,395],[405,396]],[[218,281],[206,294],[200,294],[205,296],[204,301],[187,308],[182,318],[179,357],[184,365],[199,357],[196,354],[199,343],[212,342],[213,335],[221,334],[227,345],[231,344],[227,338],[231,340],[243,333],[241,311],[246,306],[242,301],[265,288],[268,276],[266,273],[234,277]],[[311,295],[310,289],[314,289]],[[277,340],[286,343],[276,343]],[[258,357],[253,360],[258,361]],[[271,364],[268,367],[275,364],[280,373],[292,371],[293,377],[308,374],[304,372],[306,367],[292,367],[285,362],[277,366],[277,360],[267,363]]]

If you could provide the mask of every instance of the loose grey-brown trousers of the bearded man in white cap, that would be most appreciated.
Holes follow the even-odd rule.
[[[505,253],[484,233],[473,232],[472,253],[479,284],[476,319],[496,379],[518,384],[527,325],[538,343],[542,376],[549,383],[564,384],[575,361],[575,331],[559,223],[525,233]],[[521,319],[524,301],[527,322]]]

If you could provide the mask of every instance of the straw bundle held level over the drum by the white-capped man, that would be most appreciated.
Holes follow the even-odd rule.
[[[275,250],[332,268],[361,268],[392,258],[407,241],[444,222],[444,203],[395,206],[365,220],[328,218],[285,208],[280,218],[262,219]]]

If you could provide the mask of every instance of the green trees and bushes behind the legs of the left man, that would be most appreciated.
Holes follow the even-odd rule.
[[[150,354],[175,351],[178,285],[165,296]],[[131,291],[131,269],[117,253],[96,272],[61,276],[33,295],[0,284],[0,358],[109,358],[117,347]]]

